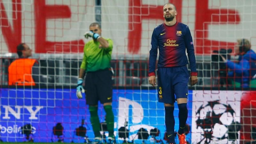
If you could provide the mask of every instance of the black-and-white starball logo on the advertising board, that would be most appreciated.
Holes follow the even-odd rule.
[[[197,144],[211,143],[211,140],[217,143],[223,140],[233,143],[237,140],[241,125],[235,121],[235,114],[230,105],[221,104],[219,100],[201,105],[196,110],[196,129],[201,133]]]

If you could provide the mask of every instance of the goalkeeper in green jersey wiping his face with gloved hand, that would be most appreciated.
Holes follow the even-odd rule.
[[[106,123],[108,127],[108,144],[115,142],[114,136],[114,114],[112,111],[112,75],[110,67],[113,41],[101,37],[99,23],[92,23],[90,31],[84,34],[85,38],[92,38],[84,45],[84,57],[80,66],[79,77],[76,88],[76,96],[81,99],[82,93],[86,93],[86,104],[89,105],[90,120],[94,132],[92,144],[101,144],[100,119],[98,116],[98,101],[103,104],[106,112]],[[85,76],[86,74],[86,76]],[[85,86],[83,80],[85,76]]]

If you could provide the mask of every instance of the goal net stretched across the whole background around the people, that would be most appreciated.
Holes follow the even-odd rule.
[[[83,35],[99,22],[102,37],[114,42],[116,142],[165,143],[164,105],[157,87],[148,84],[151,35],[164,22],[165,3],[176,6],[176,19],[188,25],[195,47],[198,83],[188,92],[187,141],[255,142],[256,79],[241,87],[236,79],[242,77],[227,77],[230,69],[219,56],[237,62],[237,39],[248,39],[256,51],[254,0],[0,0],[0,140],[93,140],[88,106],[76,98],[76,84],[90,40]],[[8,85],[8,67],[18,58],[20,43],[28,44],[38,61],[38,86]],[[175,103],[176,131],[178,113]],[[107,138],[100,103],[98,114],[102,138]],[[148,137],[141,137],[141,128]]]

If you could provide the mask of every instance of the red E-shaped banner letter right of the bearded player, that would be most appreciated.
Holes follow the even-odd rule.
[[[208,0],[196,0],[195,41],[197,54],[209,54],[219,48],[234,48],[235,43],[220,42],[208,39],[208,25],[211,22],[238,24],[239,13],[230,9],[208,9]]]

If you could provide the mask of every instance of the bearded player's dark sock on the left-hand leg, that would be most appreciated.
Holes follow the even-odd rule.
[[[165,109],[165,127],[169,143],[175,143],[174,125],[175,119],[173,116],[174,107],[164,107]]]

